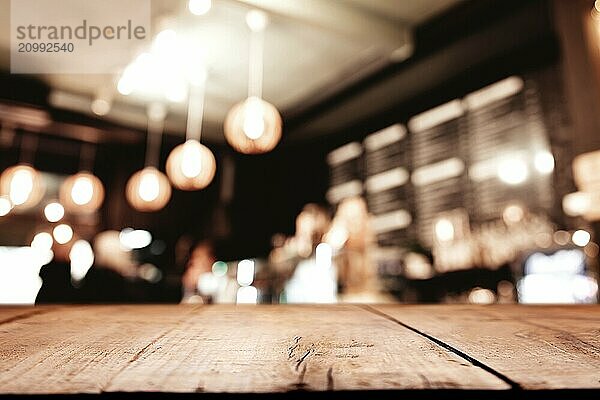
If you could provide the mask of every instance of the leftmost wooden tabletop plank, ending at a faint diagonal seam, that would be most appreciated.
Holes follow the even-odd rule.
[[[195,311],[74,306],[0,326],[0,393],[97,393]]]

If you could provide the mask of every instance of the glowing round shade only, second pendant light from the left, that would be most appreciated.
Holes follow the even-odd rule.
[[[90,172],[71,175],[60,187],[60,202],[72,213],[91,213],[104,201],[104,186]]]

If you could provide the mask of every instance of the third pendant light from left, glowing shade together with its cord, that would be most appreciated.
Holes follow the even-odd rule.
[[[158,211],[171,198],[169,180],[157,169],[166,114],[163,104],[153,103],[148,107],[146,166],[129,178],[125,189],[127,201],[138,211]]]

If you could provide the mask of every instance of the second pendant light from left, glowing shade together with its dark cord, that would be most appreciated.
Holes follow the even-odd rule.
[[[94,165],[94,153],[91,144],[84,144],[80,154],[80,172],[65,179],[60,187],[60,202],[70,213],[92,213],[104,201],[104,186],[90,172]]]

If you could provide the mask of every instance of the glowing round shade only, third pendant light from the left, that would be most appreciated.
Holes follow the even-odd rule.
[[[146,167],[129,178],[125,196],[138,211],[158,211],[169,202],[171,186],[165,174],[154,167]]]

